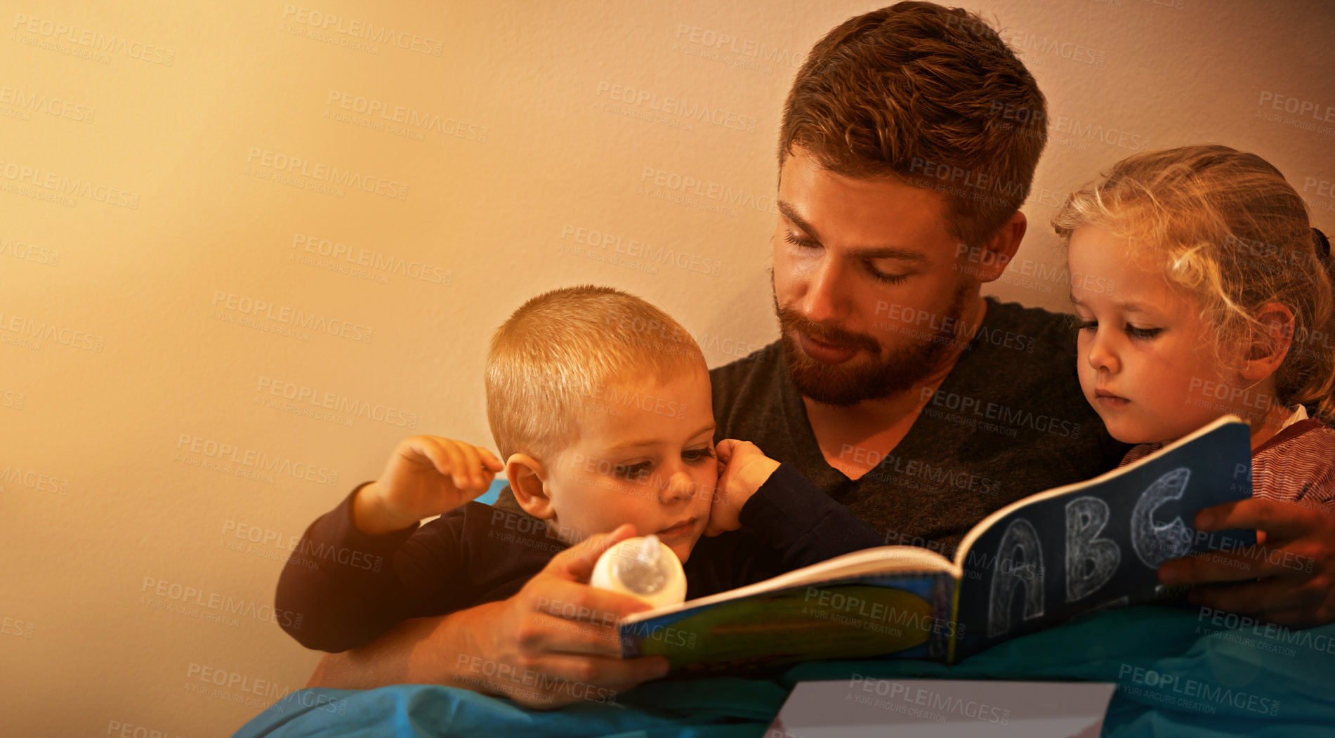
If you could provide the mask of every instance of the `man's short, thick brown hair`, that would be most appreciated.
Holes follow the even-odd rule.
[[[801,147],[844,176],[932,187],[951,235],[981,246],[1024,203],[1047,139],[1047,101],[996,31],[900,3],[816,43],[784,103],[778,161]]]

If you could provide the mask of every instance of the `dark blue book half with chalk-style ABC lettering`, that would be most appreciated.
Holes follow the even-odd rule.
[[[1159,565],[1256,543],[1256,531],[1191,527],[1206,507],[1247,499],[1251,430],[1234,415],[1107,474],[1031,495],[960,542],[963,658],[1104,607],[1177,598]]]

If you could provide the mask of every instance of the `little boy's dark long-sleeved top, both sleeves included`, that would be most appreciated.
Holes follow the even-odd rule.
[[[306,528],[278,581],[275,607],[288,613],[282,627],[308,649],[346,651],[409,618],[505,599],[565,548],[541,520],[477,502],[425,526],[371,535],[352,523],[358,490]],[[690,597],[882,543],[788,464],[746,500],[740,520],[746,530],[701,540],[686,567]]]

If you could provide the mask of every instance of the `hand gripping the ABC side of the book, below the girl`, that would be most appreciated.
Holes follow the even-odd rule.
[[[1195,526],[1256,528],[1258,544],[1165,562],[1160,582],[1246,582],[1192,590],[1191,602],[1290,627],[1335,619],[1335,511],[1252,498],[1207,507]]]

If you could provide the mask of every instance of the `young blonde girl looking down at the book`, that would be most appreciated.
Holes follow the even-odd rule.
[[[1254,153],[1131,156],[1052,220],[1085,399],[1131,463],[1224,414],[1251,423],[1254,496],[1335,503],[1330,243]]]

